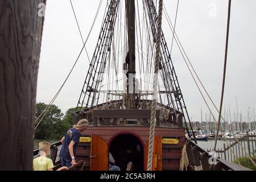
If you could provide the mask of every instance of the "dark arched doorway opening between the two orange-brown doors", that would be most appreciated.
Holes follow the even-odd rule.
[[[143,171],[143,144],[135,135],[117,135],[110,141],[109,152],[113,155],[121,171],[126,170],[129,162],[133,163],[133,171]]]

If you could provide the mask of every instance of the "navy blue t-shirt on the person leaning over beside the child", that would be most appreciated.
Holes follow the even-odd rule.
[[[60,155],[70,156],[68,146],[69,146],[69,143],[71,143],[71,141],[73,140],[75,142],[73,146],[73,152],[74,152],[74,155],[76,156],[76,148],[77,148],[77,144],[79,143],[80,136],[81,136],[81,133],[79,130],[75,128],[69,129],[64,136],[65,139],[60,150]]]

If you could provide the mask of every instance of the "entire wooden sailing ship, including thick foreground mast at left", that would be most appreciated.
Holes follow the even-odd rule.
[[[5,50],[0,53],[0,63],[3,63],[1,68],[2,65],[5,68],[0,69],[0,75],[3,75],[0,84],[1,88],[4,88],[0,89],[1,96],[4,96],[0,97],[0,111],[2,126],[5,126],[0,129],[1,136],[5,136],[1,141],[3,147],[0,159],[4,164],[0,166],[1,170],[32,169],[36,78],[44,22],[43,17],[36,16],[39,3],[46,3],[46,0],[0,2],[0,18],[3,22],[0,25],[0,35],[4,38],[0,39],[0,48]],[[152,76],[144,76],[147,79],[142,81],[137,75],[139,72],[142,72],[142,75],[152,74],[158,13],[153,0],[144,0],[141,3],[143,19],[147,23],[144,24],[146,35],[140,39],[138,24],[141,20],[136,19],[135,11],[139,9],[136,9],[134,0],[111,0],[106,9],[77,111],[73,113],[74,124],[86,118],[90,127],[82,133],[77,148],[77,166],[70,167],[70,170],[108,171],[109,152],[121,170],[147,170],[152,89],[143,87],[142,83],[152,80]],[[122,16],[125,18],[118,16],[122,13],[121,5],[125,7],[125,16]],[[15,19],[19,16],[23,19]],[[125,24],[120,23],[120,19],[124,19]],[[118,34],[120,27],[123,27],[126,33]],[[145,38],[147,41],[143,41]],[[121,39],[123,56],[119,58],[114,47],[119,45],[116,40]],[[138,46],[139,42],[141,47]],[[143,50],[146,50],[146,53]],[[196,170],[199,166],[203,167],[203,170],[240,170],[234,164],[220,159],[216,159],[217,163],[210,166],[208,160],[212,156],[185,138],[185,130],[189,135],[189,127],[192,127],[187,126],[187,122],[190,123],[187,107],[163,32],[160,36],[160,55],[161,81],[156,104],[151,170],[179,170],[184,146],[189,160],[187,170]],[[118,64],[118,61],[122,64]],[[110,67],[114,68],[113,71],[110,71]],[[146,70],[142,69],[144,67]],[[110,78],[113,78],[113,74],[118,75],[119,68],[122,68],[124,75],[123,88],[113,90],[111,88],[119,78],[115,81]],[[107,77],[104,75],[106,72]],[[107,80],[105,90],[102,86],[103,80]],[[14,112],[10,115],[11,110]],[[60,167],[60,161],[57,159],[60,145],[61,143],[57,142],[51,146],[51,159],[55,169]],[[38,155],[38,152],[35,150],[33,155]]]

